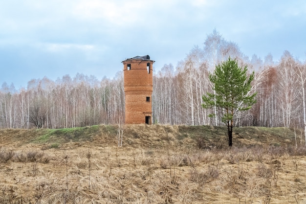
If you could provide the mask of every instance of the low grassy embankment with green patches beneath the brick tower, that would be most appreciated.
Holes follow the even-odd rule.
[[[1,145],[41,144],[47,148],[65,146],[74,142],[90,145],[115,145],[118,126],[95,125],[91,127],[65,129],[0,129]],[[126,125],[123,146],[166,147],[170,144],[198,148],[227,147],[226,127],[212,126],[165,126]],[[241,127],[234,128],[233,143],[236,147],[253,145],[294,145],[305,144],[301,132],[287,128]],[[302,137],[302,138],[301,138]]]

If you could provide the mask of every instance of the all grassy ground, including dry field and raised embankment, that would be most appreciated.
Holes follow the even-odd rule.
[[[117,130],[0,130],[0,204],[306,204],[299,131],[236,128],[229,148],[224,127]]]

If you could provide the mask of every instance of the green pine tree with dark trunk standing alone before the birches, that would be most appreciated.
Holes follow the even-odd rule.
[[[247,66],[239,67],[237,60],[229,57],[227,61],[216,66],[214,73],[209,74],[209,79],[213,83],[214,93],[206,93],[202,96],[202,107],[217,108],[221,111],[221,121],[227,125],[228,145],[232,146],[236,113],[249,110],[256,103],[256,93],[250,94],[254,71],[248,77]]]

